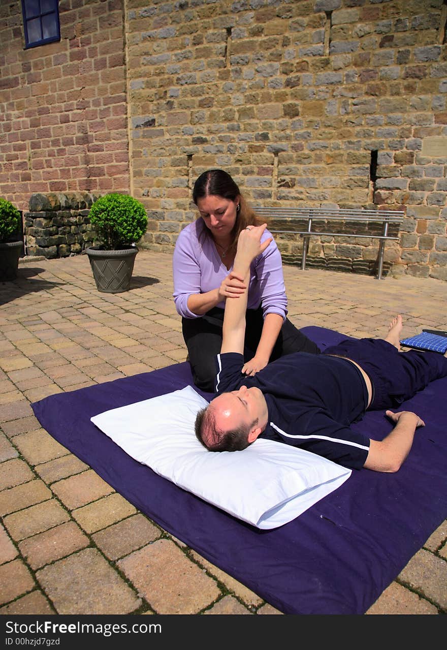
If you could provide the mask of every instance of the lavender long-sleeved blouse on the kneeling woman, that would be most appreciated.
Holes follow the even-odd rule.
[[[205,293],[220,286],[229,274],[220,259],[211,237],[204,232],[203,219],[198,218],[186,226],[177,239],[173,253],[174,302],[177,312],[184,318],[199,318],[188,309],[191,294]],[[262,234],[261,241],[272,237],[268,230]],[[251,263],[248,287],[248,309],[257,309],[262,304],[266,314],[287,316],[287,296],[285,292],[283,262],[275,241],[270,242],[259,257]],[[217,307],[225,307],[220,302]]]

